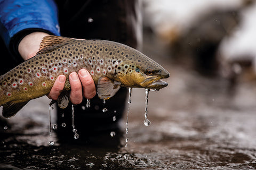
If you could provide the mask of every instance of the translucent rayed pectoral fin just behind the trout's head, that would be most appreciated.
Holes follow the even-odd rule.
[[[101,77],[98,80],[97,94],[100,99],[109,99],[116,94],[120,87],[121,82],[113,81],[108,77]]]

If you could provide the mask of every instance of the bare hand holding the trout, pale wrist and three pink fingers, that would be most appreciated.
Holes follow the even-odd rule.
[[[36,55],[39,49],[39,45],[43,37],[49,34],[44,32],[33,32],[25,36],[18,46],[19,53],[24,60]],[[59,75],[55,80],[54,85],[47,95],[50,99],[57,100],[60,91],[63,90],[65,86],[66,77],[65,75]],[[71,87],[70,101],[73,104],[80,104],[82,102],[83,96],[87,99],[91,99],[96,94],[95,84],[90,75],[90,73],[85,70],[79,70],[78,74],[73,72],[69,74],[69,82]]]

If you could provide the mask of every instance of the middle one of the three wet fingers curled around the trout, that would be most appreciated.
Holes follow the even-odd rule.
[[[74,105],[81,104],[83,100],[82,84],[78,78],[77,73],[73,72],[69,74],[69,83],[71,87],[70,101]]]

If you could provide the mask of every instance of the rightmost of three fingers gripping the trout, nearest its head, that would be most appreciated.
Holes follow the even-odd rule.
[[[90,73],[85,69],[81,69],[78,75],[82,82],[84,97],[87,99],[93,98],[96,95],[96,88]]]

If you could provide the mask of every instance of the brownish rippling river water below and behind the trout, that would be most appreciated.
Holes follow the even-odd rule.
[[[255,83],[231,89],[228,80],[202,77],[153,49],[145,53],[171,77],[169,86],[149,92],[149,126],[145,90],[132,89],[128,134],[124,115],[121,131],[94,145],[59,143],[54,130],[49,138],[50,100],[42,97],[1,119],[0,169],[256,169]]]

